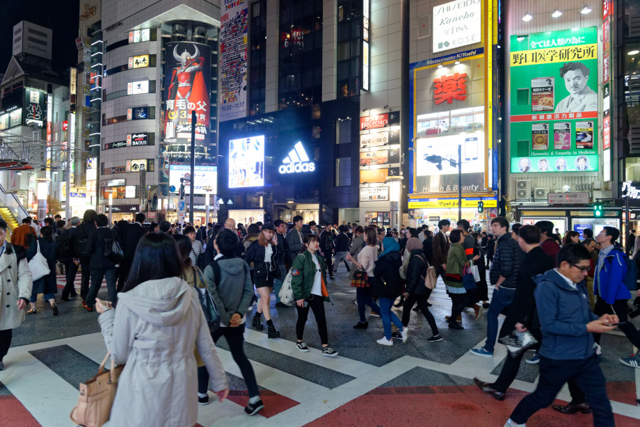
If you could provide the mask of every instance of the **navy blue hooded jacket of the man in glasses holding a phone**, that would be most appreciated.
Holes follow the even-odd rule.
[[[598,319],[589,308],[584,281],[571,287],[555,270],[534,278],[543,340],[540,354],[554,360],[584,360],[595,354],[586,324]]]

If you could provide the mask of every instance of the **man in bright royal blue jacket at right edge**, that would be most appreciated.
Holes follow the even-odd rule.
[[[621,319],[618,328],[624,332],[631,344],[640,348],[640,332],[627,321],[627,301],[631,298],[631,292],[624,283],[627,256],[614,245],[619,236],[620,232],[614,227],[605,227],[595,236],[595,241],[600,245],[600,255],[593,276],[593,294],[597,298],[593,312],[598,316],[617,314]],[[600,344],[600,334],[594,334],[593,338]],[[627,366],[640,368],[640,351],[631,357],[621,357],[620,361]]]

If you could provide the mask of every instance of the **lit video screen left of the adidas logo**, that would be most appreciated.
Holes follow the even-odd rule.
[[[229,188],[264,186],[264,135],[229,141]]]

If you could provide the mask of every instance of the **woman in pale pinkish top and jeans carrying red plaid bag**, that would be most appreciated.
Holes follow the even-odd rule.
[[[365,304],[371,307],[371,312],[380,312],[380,307],[371,298],[371,287],[374,285],[374,267],[376,266],[376,259],[378,259],[378,231],[376,227],[365,228],[365,243],[367,245],[360,250],[357,261],[351,254],[347,255],[346,258],[347,261],[353,263],[355,268],[366,271],[367,280],[369,280],[368,287],[355,289],[355,300],[358,303],[358,315],[360,316],[360,321],[353,325],[355,329],[367,329],[369,326],[369,322],[365,317]],[[353,269],[354,273],[355,268]]]

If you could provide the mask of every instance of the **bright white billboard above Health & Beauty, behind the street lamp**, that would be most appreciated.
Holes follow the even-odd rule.
[[[463,191],[484,189],[484,133],[419,138],[415,147],[415,192],[458,190],[458,145],[462,144]],[[453,163],[451,163],[453,162]]]

